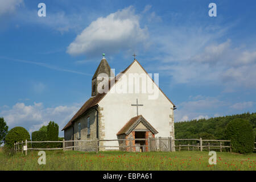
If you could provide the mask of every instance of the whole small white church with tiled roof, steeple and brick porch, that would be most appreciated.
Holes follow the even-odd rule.
[[[92,96],[63,128],[64,139],[66,141],[130,137],[174,139],[176,106],[156,84],[156,77],[154,80],[151,77],[135,58],[129,67],[117,76],[113,76],[113,70],[103,57],[92,77]],[[146,81],[143,81],[143,78],[146,78]],[[74,144],[68,143],[69,146]],[[99,144],[129,146],[130,143],[101,141]],[[133,146],[137,144],[148,145],[147,140],[133,140]],[[118,150],[118,147],[101,147],[100,151],[114,149]],[[129,150],[129,147],[125,150]],[[136,150],[133,147],[133,151]],[[144,147],[142,150],[148,151],[148,148]]]

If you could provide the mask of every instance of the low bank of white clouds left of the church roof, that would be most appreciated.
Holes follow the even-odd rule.
[[[73,104],[71,106],[44,107],[41,102],[34,102],[33,105],[18,102],[11,108],[3,108],[0,115],[5,118],[10,129],[22,126],[31,133],[41,126],[47,125],[49,121],[54,121],[58,123],[60,132],[80,108],[79,106],[79,104]]]

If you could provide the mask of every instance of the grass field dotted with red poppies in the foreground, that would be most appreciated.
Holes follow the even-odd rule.
[[[38,152],[6,156],[0,152],[0,170],[250,170],[256,154],[217,152],[217,164],[209,165],[208,152],[78,152],[46,151],[46,165],[38,164]]]

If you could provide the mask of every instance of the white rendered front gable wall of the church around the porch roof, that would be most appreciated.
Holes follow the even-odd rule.
[[[145,72],[135,61],[126,71],[126,77],[128,77],[129,73],[141,74]],[[112,89],[121,86],[120,84],[121,82],[117,81]],[[157,86],[155,87],[158,89]],[[131,104],[136,104],[137,98],[138,104],[143,104],[143,106],[139,106],[138,114],[143,115],[143,117],[159,132],[156,137],[172,137],[174,139],[174,114],[172,110],[174,105],[172,105],[160,90],[158,92],[158,98],[155,100],[148,100],[148,95],[152,94],[112,93],[112,89],[110,89],[110,92],[99,102],[99,105],[104,109],[101,111],[101,114],[104,115],[105,139],[117,138],[116,134],[118,131],[127,121],[137,115],[136,106],[131,106]],[[118,142],[112,142],[111,144],[107,143],[108,142],[105,143],[106,146],[115,146],[115,144],[118,144]],[[118,150],[118,148],[116,149]]]

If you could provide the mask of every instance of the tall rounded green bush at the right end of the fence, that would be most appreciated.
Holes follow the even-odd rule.
[[[254,148],[254,133],[246,119],[233,119],[226,126],[226,139],[231,140],[232,151],[250,153]]]

